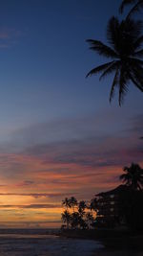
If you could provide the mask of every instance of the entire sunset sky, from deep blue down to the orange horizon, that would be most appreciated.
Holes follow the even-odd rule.
[[[110,105],[112,77],[85,79],[106,60],[86,39],[106,42],[119,4],[1,0],[0,227],[59,226],[62,199],[90,200],[143,167],[143,94],[130,84]]]

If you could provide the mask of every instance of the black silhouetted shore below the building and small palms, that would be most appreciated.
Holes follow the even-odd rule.
[[[122,252],[127,251],[133,251],[133,255],[143,255],[143,232],[133,234],[129,231],[117,230],[64,230],[60,231],[58,235],[61,237],[72,239],[85,239],[97,241],[104,245],[104,248],[99,249],[98,251],[98,255],[101,256],[123,256],[124,254]],[[110,252],[111,254],[109,254],[108,252]],[[115,252],[118,254],[115,254]]]

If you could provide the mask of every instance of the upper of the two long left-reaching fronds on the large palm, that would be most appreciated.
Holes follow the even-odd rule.
[[[118,58],[118,55],[112,48],[101,41],[88,39],[87,42],[91,45],[90,49],[97,52],[99,55],[107,58]]]

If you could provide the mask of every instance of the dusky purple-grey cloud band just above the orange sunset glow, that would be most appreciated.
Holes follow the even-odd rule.
[[[45,165],[52,162],[96,168],[124,165],[133,161],[133,155],[136,161],[141,161],[143,146],[139,141],[134,143],[134,138],[125,140],[124,136],[114,135],[36,145],[26,151],[31,156],[40,157]]]

